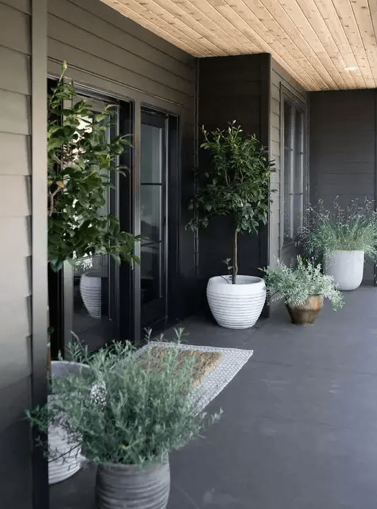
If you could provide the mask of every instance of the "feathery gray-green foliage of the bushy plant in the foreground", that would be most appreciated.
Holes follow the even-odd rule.
[[[165,460],[170,451],[200,436],[222,412],[212,416],[197,412],[194,358],[188,357],[177,370],[182,332],[177,334],[158,372],[148,369],[154,361],[151,345],[144,362],[138,362],[138,351],[129,342],[113,343],[90,354],[73,347],[71,358],[89,369],[53,379],[48,407],[27,410],[26,418],[42,433],[49,425],[61,425],[72,445],[81,445],[82,454],[93,462],[143,467]],[[54,451],[48,451],[47,440],[40,443],[56,459]]]

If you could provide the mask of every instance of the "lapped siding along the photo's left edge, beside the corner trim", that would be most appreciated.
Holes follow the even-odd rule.
[[[32,508],[29,13],[29,0],[0,1],[0,505],[9,509]]]

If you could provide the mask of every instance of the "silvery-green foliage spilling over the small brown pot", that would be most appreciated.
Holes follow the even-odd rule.
[[[300,304],[308,295],[323,295],[330,299],[334,310],[343,307],[341,292],[335,287],[332,277],[321,272],[321,264],[304,261],[301,256],[297,256],[295,267],[279,261],[275,268],[267,267],[263,270],[266,288],[276,292],[275,295],[288,304]]]

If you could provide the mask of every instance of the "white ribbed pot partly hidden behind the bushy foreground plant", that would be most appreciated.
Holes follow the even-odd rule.
[[[84,364],[78,362],[53,360],[51,362],[51,375],[53,378],[75,375],[80,367],[86,368]],[[48,401],[52,401],[52,399],[53,395],[49,395]],[[75,447],[75,444],[69,440],[64,428],[49,426],[49,449],[53,456],[65,454],[64,457],[56,460],[49,458],[49,484],[64,481],[80,470],[81,448],[79,446]]]

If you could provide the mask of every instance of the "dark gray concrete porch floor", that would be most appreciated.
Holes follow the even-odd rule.
[[[249,330],[182,323],[254,356],[208,406],[221,421],[171,454],[168,509],[376,509],[377,288],[344,296],[308,327],[284,308]],[[90,467],[51,486],[51,509],[94,509],[94,484]]]

